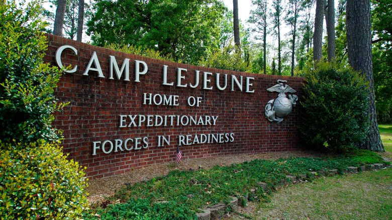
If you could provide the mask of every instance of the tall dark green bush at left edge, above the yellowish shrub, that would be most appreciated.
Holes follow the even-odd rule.
[[[39,16],[41,2],[26,8],[0,4],[0,139],[58,140],[52,113],[62,108],[53,95],[60,70],[43,64],[47,48]]]

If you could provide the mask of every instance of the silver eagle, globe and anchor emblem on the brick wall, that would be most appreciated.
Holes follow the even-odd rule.
[[[285,92],[294,93],[296,90],[292,89],[290,86],[285,85],[287,80],[278,79],[276,85],[268,88],[267,91],[270,92],[279,92],[278,97],[276,99],[271,99],[267,102],[264,107],[265,110],[265,118],[267,118],[270,122],[280,123],[283,121],[283,118],[290,114],[292,107],[296,106],[298,96],[293,94],[289,94],[288,98]]]

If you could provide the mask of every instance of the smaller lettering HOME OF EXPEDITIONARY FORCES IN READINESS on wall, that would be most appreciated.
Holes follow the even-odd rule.
[[[173,97],[176,96],[176,97]],[[190,96],[193,97],[193,96]],[[193,100],[193,101],[189,101]],[[188,105],[200,106],[201,97],[188,98]],[[178,105],[177,95],[143,94],[143,104]],[[180,116],[180,115],[120,115],[120,128],[158,127],[158,126],[215,126],[218,116]],[[171,136],[156,136],[157,147],[169,146]],[[92,155],[98,151],[105,154],[146,149],[150,146],[149,137],[116,139],[92,142]],[[178,135],[177,145],[214,144],[234,142],[234,133]]]

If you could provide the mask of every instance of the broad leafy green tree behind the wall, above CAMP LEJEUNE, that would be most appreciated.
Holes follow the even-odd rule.
[[[87,23],[94,44],[135,45],[197,64],[219,47],[227,9],[218,0],[97,1]]]

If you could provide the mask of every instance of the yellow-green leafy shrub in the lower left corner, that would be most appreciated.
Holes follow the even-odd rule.
[[[1,144],[0,219],[76,219],[87,209],[84,171],[54,143]]]

